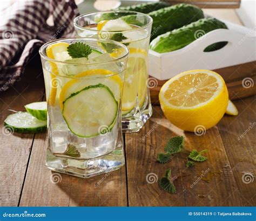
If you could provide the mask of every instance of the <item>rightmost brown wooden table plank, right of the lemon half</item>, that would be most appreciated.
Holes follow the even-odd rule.
[[[239,115],[225,116],[218,124],[242,204],[245,206],[256,205],[255,98],[252,96],[235,101]]]

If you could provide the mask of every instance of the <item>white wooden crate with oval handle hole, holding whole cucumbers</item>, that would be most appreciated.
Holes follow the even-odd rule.
[[[149,51],[149,75],[159,80],[192,69],[218,69],[256,60],[256,32],[241,25],[223,21],[227,29],[217,29],[201,36],[177,51],[157,53]],[[228,44],[214,52],[204,49],[219,41]]]

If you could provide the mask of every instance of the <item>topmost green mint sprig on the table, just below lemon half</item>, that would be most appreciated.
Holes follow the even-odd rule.
[[[159,153],[157,156],[157,161],[160,163],[168,162],[173,154],[179,153],[183,150],[184,146],[184,137],[177,136],[170,138],[165,145],[165,153]]]

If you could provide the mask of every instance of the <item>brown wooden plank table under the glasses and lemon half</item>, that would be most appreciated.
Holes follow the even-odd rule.
[[[233,10],[206,10],[211,15],[240,23]],[[44,100],[44,83],[38,54],[25,67],[21,81],[0,95],[1,124],[11,110]],[[168,122],[159,106],[138,133],[124,134],[126,165],[110,174],[82,179],[53,173],[44,166],[45,133],[1,133],[1,206],[255,206],[255,183],[242,179],[256,174],[255,97],[234,102],[239,115],[224,116],[203,136],[184,132]],[[146,139],[142,139],[147,134]],[[166,141],[185,136],[185,151],[169,163],[156,162]],[[186,156],[193,148],[208,149],[208,160],[186,168]],[[167,194],[158,182],[147,183],[154,173],[159,180],[167,168],[177,176],[177,194]],[[205,172],[207,170],[207,173]],[[202,176],[204,174],[204,176]],[[250,177],[249,177],[250,178]],[[98,183],[98,184],[97,184]],[[196,183],[196,184],[193,184]]]

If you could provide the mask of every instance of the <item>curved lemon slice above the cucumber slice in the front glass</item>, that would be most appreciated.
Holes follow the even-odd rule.
[[[122,83],[122,79],[120,78],[119,75],[117,75],[117,73],[111,72],[110,70],[106,70],[106,69],[92,69],[92,70],[87,70],[86,72],[77,74],[73,77],[76,77],[77,79],[73,79],[67,82],[62,87],[62,90],[60,91],[60,94],[59,94],[60,110],[63,110],[63,102],[71,94],[74,94],[77,91],[80,91],[87,86],[96,85],[96,84],[103,84],[109,87],[110,90],[113,92],[114,98],[118,102],[120,101],[123,83]]]

